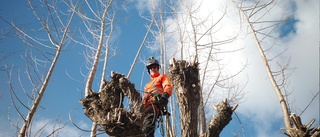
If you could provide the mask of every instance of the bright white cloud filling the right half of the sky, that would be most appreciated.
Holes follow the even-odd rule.
[[[200,23],[204,21],[205,17],[208,20],[206,22],[202,22],[200,28],[197,28],[201,31],[198,33],[204,33],[206,27],[212,25],[213,22],[217,21],[217,19],[221,15],[221,11],[224,10],[224,7],[227,7],[227,14],[225,18],[218,24],[213,31],[214,39],[216,41],[222,40],[223,38],[230,38],[230,36],[234,36],[239,31],[239,28],[235,28],[235,24],[239,23],[239,15],[232,10],[234,9],[232,3],[225,1],[212,1],[212,0],[201,0],[201,1],[193,1],[193,6],[202,4],[201,7],[198,8],[198,13],[193,15],[196,18],[195,23]],[[249,1],[246,1],[249,2]],[[308,101],[312,98],[312,95],[319,91],[319,18],[318,16],[311,16],[315,13],[319,13],[319,1],[318,0],[309,0],[309,1],[277,1],[278,5],[275,6],[271,11],[266,15],[266,19],[275,20],[281,19],[281,16],[286,17],[288,15],[294,15],[295,19],[299,20],[296,24],[295,28],[296,34],[289,34],[285,39],[279,40],[280,45],[276,47],[271,52],[268,53],[269,56],[276,55],[280,53],[285,48],[288,48],[288,52],[286,52],[278,61],[282,62],[283,59],[288,59],[291,56],[291,67],[297,67],[296,71],[290,77],[290,87],[289,91],[293,91],[293,93],[289,97],[289,102],[291,108],[303,109]],[[296,2],[296,4],[294,3]],[[222,6],[224,5],[224,6]],[[188,12],[186,11],[185,4],[180,4],[181,7],[178,9],[177,18],[170,18],[167,20],[167,24],[170,24],[170,28],[167,30],[168,33],[172,33],[176,31],[179,33],[175,27],[181,25],[190,26],[190,20],[188,20]],[[222,6],[222,8],[221,8]],[[285,13],[284,13],[285,12]],[[210,14],[208,14],[210,13]],[[212,16],[211,16],[212,15]],[[177,21],[181,24],[177,24],[173,21]],[[247,29],[245,25],[242,26],[242,30]],[[187,56],[187,59],[192,59],[194,55],[194,50],[192,47],[192,42],[188,38],[191,37],[190,32],[192,31],[191,27],[187,27],[185,30],[180,31],[183,32],[183,40],[186,45],[184,54]],[[274,33],[275,34],[275,33]],[[246,94],[244,96],[245,102],[241,103],[238,107],[238,112],[244,116],[252,118],[252,122],[254,124],[257,136],[273,136],[279,135],[279,130],[274,131],[273,124],[279,124],[279,120],[282,119],[282,111],[279,103],[279,99],[274,92],[270,80],[266,74],[266,70],[264,68],[261,56],[259,51],[253,41],[253,36],[251,33],[245,34],[246,36],[239,35],[239,39],[233,41],[232,43],[225,44],[224,46],[232,46],[241,45],[245,46],[243,51],[237,52],[236,55],[232,54],[224,54],[220,56],[220,59],[224,59],[223,63],[227,64],[226,74],[234,74],[237,72],[232,68],[241,68],[242,63],[248,60],[248,67],[244,70],[244,72],[236,78],[239,82],[244,82],[249,80],[245,91]],[[277,35],[277,34],[275,34]],[[171,45],[169,47],[179,47],[179,41],[174,41],[174,38],[178,39],[179,35],[170,35]],[[207,42],[209,37],[203,39],[203,42]],[[272,43],[273,41],[269,41],[270,39],[266,39],[265,42]],[[272,40],[272,39],[271,39]],[[168,42],[168,43],[170,43]],[[188,44],[190,42],[191,44]],[[230,49],[224,48],[223,46],[219,47],[220,50]],[[171,50],[172,51],[172,50]],[[204,62],[207,51],[201,51],[200,54],[200,63]],[[177,51],[173,51],[170,54],[176,54],[176,57],[180,57],[180,54]],[[232,56],[229,56],[232,55]],[[235,55],[235,56],[234,56]],[[190,58],[189,58],[190,57]],[[185,59],[185,58],[184,58]],[[234,65],[238,63],[237,65]],[[202,65],[202,64],[201,64]],[[211,67],[217,67],[216,64],[211,63]],[[203,70],[203,68],[200,68]],[[213,78],[217,75],[216,72],[211,72]],[[294,89],[294,90],[293,90]],[[221,100],[221,98],[217,97],[217,95],[225,95],[223,93],[219,93],[219,91],[215,91],[213,95],[213,99],[215,102]],[[227,96],[227,95],[225,95]],[[297,109],[291,109],[297,110]],[[299,111],[296,111],[299,113]],[[303,123],[309,122],[310,118],[319,119],[319,98],[315,99],[313,104],[310,106],[308,111],[302,115]],[[281,122],[283,123],[283,122]],[[272,131],[273,130],[273,131]],[[270,131],[272,133],[270,133]]]

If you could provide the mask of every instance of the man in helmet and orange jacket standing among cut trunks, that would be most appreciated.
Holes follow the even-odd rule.
[[[143,97],[144,119],[142,130],[147,137],[153,137],[156,120],[160,112],[168,104],[172,94],[172,84],[165,74],[159,72],[159,62],[154,57],[149,57],[147,70],[151,81],[145,86]]]

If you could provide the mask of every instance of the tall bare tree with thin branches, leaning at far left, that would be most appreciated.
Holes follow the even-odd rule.
[[[61,1],[59,3],[55,1],[52,3],[50,3],[51,1],[42,2],[44,6],[43,11],[45,12],[39,12],[31,1],[28,1],[28,6],[41,26],[39,30],[42,31],[39,33],[45,34],[43,36],[47,37],[40,35],[40,37],[34,36],[28,31],[18,27],[16,24],[11,23],[11,26],[16,30],[16,35],[21,38],[26,45],[24,57],[27,64],[26,74],[33,86],[31,92],[26,91],[26,96],[28,96],[32,102],[32,105],[28,106],[22,102],[18,96],[16,96],[12,83],[9,83],[14,108],[23,119],[23,125],[19,132],[20,137],[28,136],[28,134],[30,134],[29,131],[31,131],[32,120],[41,104],[41,100],[45,94],[46,88],[59,60],[62,49],[69,43],[68,35],[70,33],[71,23],[74,20],[75,15],[75,7],[72,5],[72,3],[67,3],[65,1]],[[59,4],[66,4],[67,12],[61,13],[61,11],[57,9],[58,6],[56,6]],[[67,17],[68,19],[63,20],[63,17]],[[28,51],[27,49],[31,50]],[[49,65],[48,68],[46,67],[47,65]],[[12,73],[9,69],[7,72],[8,79],[11,81]],[[27,90],[23,84],[21,85],[21,88],[22,90]],[[17,103],[15,103],[15,100],[17,100]],[[23,115],[20,112],[21,110],[19,109],[19,104],[28,110],[27,115]]]

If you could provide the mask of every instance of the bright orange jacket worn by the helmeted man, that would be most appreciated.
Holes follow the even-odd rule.
[[[162,95],[163,92],[168,93],[169,96],[172,95],[172,84],[170,79],[165,74],[158,74],[151,76],[151,81],[144,87],[145,94],[143,96],[143,104],[156,103],[156,99],[153,95]]]

